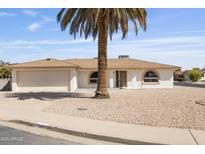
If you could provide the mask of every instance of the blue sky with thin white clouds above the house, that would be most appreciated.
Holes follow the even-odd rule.
[[[97,41],[74,40],[56,22],[60,9],[0,9],[0,60],[20,63],[45,58],[93,58]],[[205,9],[147,9],[147,30],[126,40],[121,33],[108,42],[108,57],[130,58],[181,66],[205,67]],[[69,28],[69,27],[68,27]]]

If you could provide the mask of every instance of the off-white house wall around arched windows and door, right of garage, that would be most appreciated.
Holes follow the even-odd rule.
[[[89,75],[93,71],[92,70],[78,71],[77,73],[78,88],[96,88],[96,84],[89,84]],[[116,71],[117,70],[108,71],[109,88],[116,87]],[[144,73],[149,70],[143,70],[143,69],[120,70],[119,69],[119,71],[127,71],[127,87],[125,87],[127,89],[172,88],[173,87],[173,70],[171,69],[153,70],[159,76],[159,82],[154,84],[143,82]]]

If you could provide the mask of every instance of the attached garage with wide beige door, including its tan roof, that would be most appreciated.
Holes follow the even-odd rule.
[[[78,66],[53,58],[11,65],[13,92],[65,92],[76,87]]]

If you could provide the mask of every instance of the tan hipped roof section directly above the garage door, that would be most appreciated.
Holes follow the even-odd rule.
[[[63,60],[48,58],[43,60],[36,60],[31,62],[14,64],[14,65],[10,65],[9,67],[10,68],[62,68],[62,67],[73,68],[77,66]]]

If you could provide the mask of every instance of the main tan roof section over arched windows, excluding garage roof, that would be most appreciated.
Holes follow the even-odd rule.
[[[96,69],[97,59],[67,59],[72,64],[80,66],[82,69]],[[178,66],[148,62],[137,59],[108,59],[108,69],[148,69],[148,68],[180,68]]]

